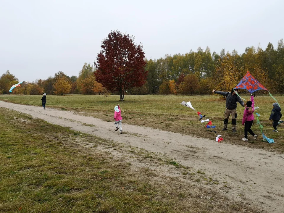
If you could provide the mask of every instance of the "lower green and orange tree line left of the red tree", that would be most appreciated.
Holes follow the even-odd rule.
[[[59,71],[46,80],[38,79],[34,82],[24,81],[21,87],[16,87],[12,91],[13,94],[24,95],[40,95],[46,94],[109,94],[109,91],[102,87],[101,83],[97,83],[93,75],[95,69],[91,64],[85,63],[79,76],[67,76],[64,72]],[[9,70],[0,78],[0,92],[9,94],[12,85],[18,83],[19,80],[12,75]]]

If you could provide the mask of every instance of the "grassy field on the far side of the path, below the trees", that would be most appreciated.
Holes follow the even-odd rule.
[[[249,96],[243,96],[249,100]],[[283,96],[276,96],[279,103],[284,103]],[[41,106],[41,96],[35,95],[4,95],[0,100],[9,101],[18,104],[30,104]],[[241,141],[244,137],[241,119],[244,108],[238,104],[237,112],[237,133],[230,130],[231,120],[229,120],[227,132],[222,132],[223,118],[225,111],[225,101],[218,95],[212,96],[125,96],[125,101],[120,102],[119,96],[99,96],[99,95],[66,95],[66,96],[47,96],[46,107],[55,107],[62,110],[71,110],[75,112],[86,112],[87,115],[100,118],[105,121],[113,121],[114,106],[118,103],[122,109],[123,123],[140,125],[161,130],[193,135],[214,139],[214,133],[206,130],[205,124],[201,124],[195,111],[182,106],[180,103],[191,101],[196,111],[206,114],[206,118],[212,120],[216,125],[217,133],[224,138],[223,143],[233,143],[241,146],[255,147],[270,151],[284,152],[284,130],[283,124],[279,125],[278,133],[272,133],[272,122],[269,121],[272,103],[275,101],[270,96],[255,97],[256,110],[261,116],[259,120],[264,125],[264,133],[268,138],[273,138],[275,143],[268,144],[262,141],[260,130],[255,123],[252,130],[259,135],[257,141],[253,141],[249,136],[249,142]],[[282,104],[283,105],[283,104]],[[256,116],[255,116],[256,117]],[[125,130],[127,131],[127,130]],[[212,141],[213,142],[213,141]]]

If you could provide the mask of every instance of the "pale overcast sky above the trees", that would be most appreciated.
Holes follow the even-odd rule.
[[[139,2],[139,3],[138,3]],[[148,59],[209,46],[263,49],[284,37],[284,1],[0,0],[0,75],[77,75],[111,30],[135,36]]]

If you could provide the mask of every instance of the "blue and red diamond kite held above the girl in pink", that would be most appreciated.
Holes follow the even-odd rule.
[[[250,93],[259,90],[266,90],[267,88],[264,87],[258,80],[256,80],[249,72],[242,78],[242,80],[236,85],[235,89],[246,89]]]

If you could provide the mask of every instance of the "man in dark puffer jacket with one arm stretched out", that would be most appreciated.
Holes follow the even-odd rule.
[[[236,92],[238,92],[238,89],[235,89]],[[232,131],[237,131],[237,120],[236,120],[236,114],[237,114],[237,101],[242,105],[245,106],[246,104],[242,101],[242,99],[237,96],[235,93],[234,88],[231,90],[231,92],[222,92],[222,91],[215,91],[213,90],[213,93],[220,94],[223,96],[226,96],[226,110],[225,110],[225,118],[224,118],[224,128],[223,131],[228,130],[228,121],[230,114],[232,115]]]

